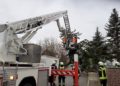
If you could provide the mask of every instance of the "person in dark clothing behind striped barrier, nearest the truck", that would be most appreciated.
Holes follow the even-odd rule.
[[[51,69],[57,69],[55,61],[53,61],[52,65],[51,65]],[[51,74],[51,76],[49,76],[50,86],[56,86],[55,85],[55,80],[56,80],[56,76]]]

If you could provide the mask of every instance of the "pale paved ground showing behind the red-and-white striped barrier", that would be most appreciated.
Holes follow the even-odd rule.
[[[58,77],[56,78],[56,86],[58,86]],[[66,76],[65,86],[73,86],[73,78]],[[99,79],[96,73],[90,72],[87,74],[82,73],[79,78],[79,86],[100,86]]]

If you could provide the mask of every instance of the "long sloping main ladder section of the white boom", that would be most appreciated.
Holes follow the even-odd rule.
[[[67,11],[61,11],[61,12],[56,12],[48,15],[43,15],[35,18],[18,21],[15,23],[9,23],[7,25],[13,28],[14,32],[23,33],[23,32],[32,30],[33,28],[42,27],[43,25],[46,25],[52,21],[55,21],[60,17],[67,17],[66,15],[67,15]]]

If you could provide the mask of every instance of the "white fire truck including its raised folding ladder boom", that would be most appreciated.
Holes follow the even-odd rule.
[[[60,26],[60,18],[64,20],[65,29]],[[67,11],[0,25],[0,86],[47,86],[47,68],[36,65],[39,63],[25,62],[24,57],[20,57],[23,62],[17,59],[28,54],[23,44],[27,44],[42,26],[52,21],[57,22],[62,34],[71,32]],[[21,33],[25,35],[18,38]]]

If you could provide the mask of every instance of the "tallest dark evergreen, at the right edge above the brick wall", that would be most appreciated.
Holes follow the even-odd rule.
[[[109,38],[109,54],[111,58],[120,60],[120,21],[116,9],[113,9],[105,29],[107,31],[107,38]]]

